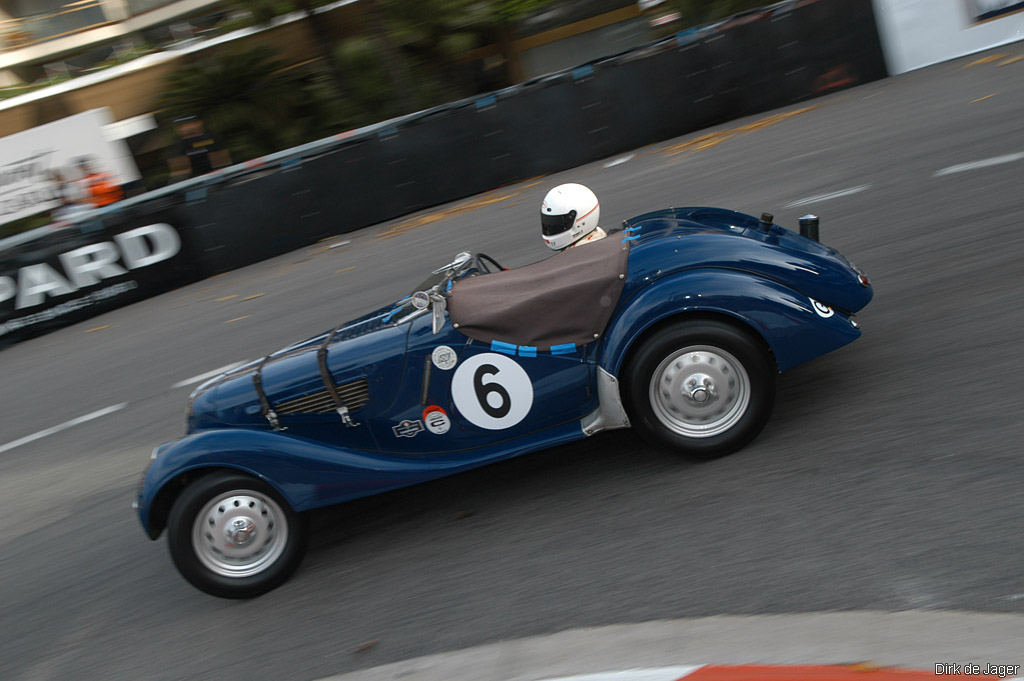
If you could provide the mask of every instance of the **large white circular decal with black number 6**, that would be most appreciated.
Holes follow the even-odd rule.
[[[534,385],[514,359],[484,352],[466,359],[452,377],[452,400],[474,426],[511,428],[534,406]]]

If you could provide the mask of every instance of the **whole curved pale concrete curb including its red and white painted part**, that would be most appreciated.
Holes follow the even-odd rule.
[[[321,681],[1024,681],[1021,641],[1024,614],[1013,613],[712,615],[569,629],[373,666],[386,651],[382,638],[350,653],[361,669]]]

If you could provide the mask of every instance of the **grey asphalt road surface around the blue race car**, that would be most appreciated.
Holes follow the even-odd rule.
[[[0,678],[302,681],[583,626],[1024,611],[1024,60],[973,60],[345,235],[3,350]],[[130,508],[152,448],[182,432],[189,387],[172,386],[394,299],[457,251],[544,257],[538,207],[569,180],[597,191],[608,226],[669,205],[785,225],[818,213],[822,241],[872,278],[863,337],[784,374],[768,427],[732,457],[689,464],[606,433],[319,512],[305,563],[262,598],[179,578]]]

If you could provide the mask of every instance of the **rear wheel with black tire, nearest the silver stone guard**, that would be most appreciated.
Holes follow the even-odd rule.
[[[715,459],[741,449],[764,428],[775,405],[777,374],[771,353],[750,332],[712,320],[678,322],[631,353],[623,372],[626,409],[651,444],[690,459]]]

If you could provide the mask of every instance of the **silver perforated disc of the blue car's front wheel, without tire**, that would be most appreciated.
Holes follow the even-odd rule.
[[[237,490],[214,497],[193,522],[193,548],[203,565],[243,578],[270,567],[288,543],[288,523],[269,497]]]

